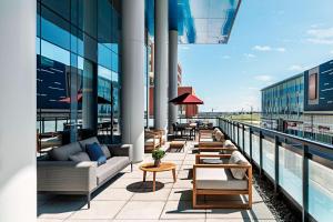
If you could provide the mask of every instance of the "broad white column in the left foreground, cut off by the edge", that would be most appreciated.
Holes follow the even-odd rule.
[[[36,0],[0,1],[0,221],[37,220]]]

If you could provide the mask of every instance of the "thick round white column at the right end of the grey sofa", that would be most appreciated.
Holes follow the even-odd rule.
[[[122,0],[122,142],[133,144],[133,162],[144,153],[144,0]]]

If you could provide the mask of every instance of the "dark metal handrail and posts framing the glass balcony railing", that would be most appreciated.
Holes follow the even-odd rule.
[[[250,161],[253,163],[256,162],[255,165],[258,165],[260,174],[263,172],[263,174],[274,183],[275,192],[281,191],[285,198],[302,212],[302,221],[316,221],[309,212],[309,202],[313,201],[313,199],[310,200],[309,198],[311,173],[310,160],[333,170],[333,145],[224,118],[219,118],[218,123],[221,130],[250,158]],[[245,132],[249,132],[249,134],[245,134]],[[254,147],[253,144],[253,134],[259,138],[258,147]],[[245,135],[248,137],[246,139]],[[264,139],[274,144],[274,159],[272,161],[274,164],[274,172],[265,172],[263,165],[263,149],[265,149],[263,148]],[[249,142],[246,143],[246,141]],[[245,143],[248,144],[248,149],[245,149]],[[254,148],[256,148],[256,152],[259,153],[259,160],[253,161],[253,157],[255,157],[253,155]],[[295,196],[284,190],[283,183],[280,183],[280,149],[286,149],[302,158],[302,204],[299,204],[295,201]],[[330,171],[327,170],[327,172]],[[274,176],[274,179],[270,173],[273,173],[272,176]],[[330,201],[332,199],[330,199]],[[316,214],[316,216],[319,215]]]

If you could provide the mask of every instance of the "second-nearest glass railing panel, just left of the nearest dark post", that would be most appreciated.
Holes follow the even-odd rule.
[[[279,147],[280,185],[302,205],[302,157]]]

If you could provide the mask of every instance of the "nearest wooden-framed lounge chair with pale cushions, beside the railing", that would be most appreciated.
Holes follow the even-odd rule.
[[[201,159],[219,158],[222,164],[202,164]],[[246,203],[198,203],[198,195],[248,195]],[[233,154],[198,154],[193,165],[194,209],[251,209],[252,165],[239,152]]]

